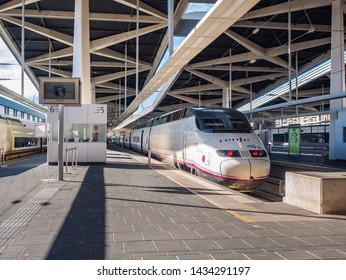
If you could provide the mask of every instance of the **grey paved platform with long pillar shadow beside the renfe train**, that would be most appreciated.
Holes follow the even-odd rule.
[[[0,259],[346,259],[346,217],[263,202],[108,147],[69,169],[0,169]],[[49,170],[47,170],[49,169]],[[49,171],[49,172],[48,172]]]

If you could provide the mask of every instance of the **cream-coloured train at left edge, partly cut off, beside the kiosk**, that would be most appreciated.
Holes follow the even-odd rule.
[[[0,152],[2,162],[30,154],[43,152],[47,148],[46,137],[38,137],[34,122],[0,115]]]

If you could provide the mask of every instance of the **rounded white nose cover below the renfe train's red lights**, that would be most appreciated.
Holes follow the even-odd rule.
[[[266,159],[224,160],[220,165],[220,173],[229,180],[263,181],[268,177],[270,163]]]

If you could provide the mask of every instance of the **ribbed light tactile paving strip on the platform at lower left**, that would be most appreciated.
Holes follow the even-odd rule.
[[[58,188],[45,188],[31,201],[21,207],[13,216],[0,224],[0,246],[16,237],[31,221],[44,203],[54,195]]]

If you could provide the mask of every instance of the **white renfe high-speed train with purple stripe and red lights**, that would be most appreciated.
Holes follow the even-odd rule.
[[[232,109],[186,108],[147,123],[118,139],[127,148],[188,169],[240,191],[259,187],[270,160],[247,118]]]

